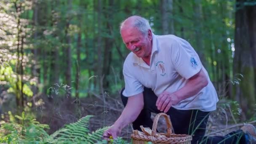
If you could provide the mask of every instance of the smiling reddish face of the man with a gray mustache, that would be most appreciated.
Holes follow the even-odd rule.
[[[139,30],[133,27],[124,27],[121,30],[121,36],[126,47],[140,58],[150,56],[152,51],[152,34],[149,30],[147,35],[143,35]]]

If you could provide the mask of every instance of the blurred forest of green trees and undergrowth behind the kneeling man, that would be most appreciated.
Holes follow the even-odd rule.
[[[220,99],[209,134],[255,123],[256,0],[0,0],[1,120],[25,112],[48,133],[86,115],[90,130],[111,125],[129,53],[119,24],[131,15],[199,54]]]

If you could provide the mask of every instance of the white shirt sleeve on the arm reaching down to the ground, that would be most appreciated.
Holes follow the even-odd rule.
[[[128,67],[127,64],[123,66],[123,76],[125,80],[123,96],[134,96],[144,91],[144,86],[136,79],[135,73],[132,73],[132,68]]]

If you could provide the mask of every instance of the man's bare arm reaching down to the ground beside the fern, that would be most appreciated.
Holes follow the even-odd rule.
[[[112,125],[111,128],[109,128],[107,131],[104,132],[105,137],[112,136],[113,138],[116,138],[122,128],[125,126],[131,124],[136,118],[139,116],[141,110],[144,107],[144,99],[143,99],[143,93],[136,94],[134,96],[128,97],[128,102],[123,109],[122,114],[120,117],[115,121],[115,124]]]

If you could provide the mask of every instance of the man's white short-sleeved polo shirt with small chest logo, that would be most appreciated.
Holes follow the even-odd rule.
[[[150,66],[134,53],[129,53],[123,64],[125,80],[124,96],[133,96],[144,91],[144,86],[152,88],[159,96],[163,91],[174,92],[182,88],[187,80],[203,69],[208,85],[195,96],[180,101],[176,109],[199,109],[210,112],[216,109],[219,101],[208,72],[199,56],[184,39],[175,35],[152,34]]]

